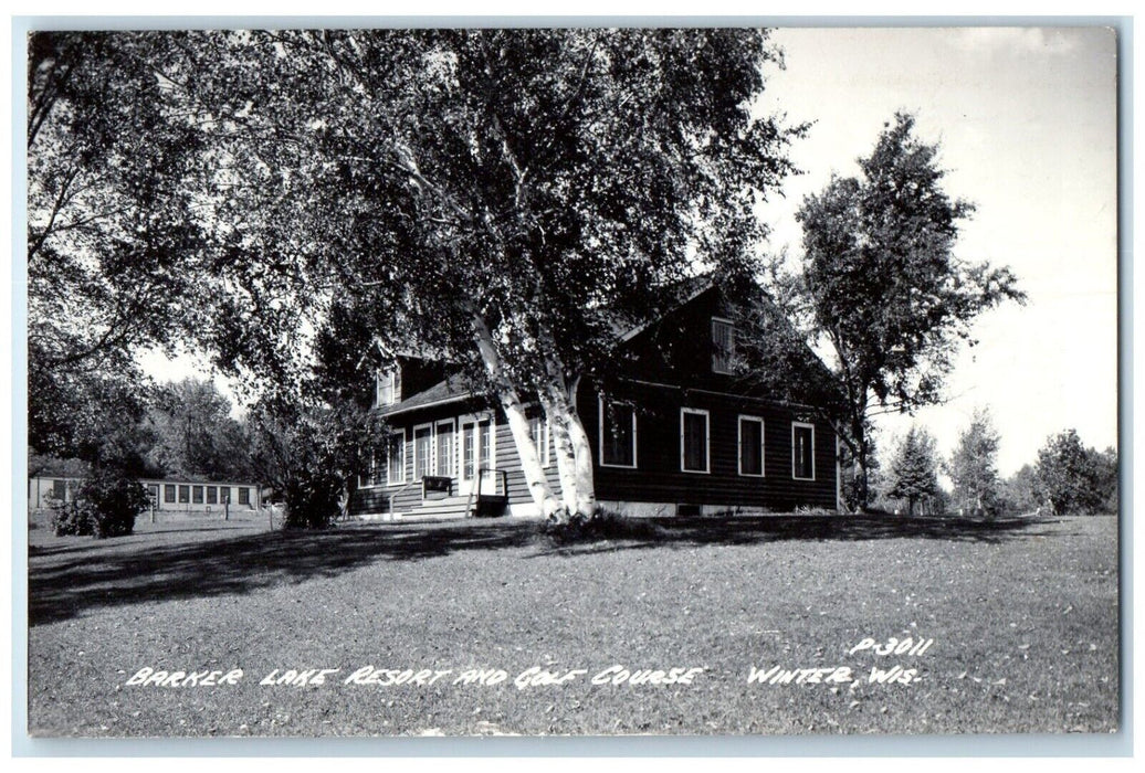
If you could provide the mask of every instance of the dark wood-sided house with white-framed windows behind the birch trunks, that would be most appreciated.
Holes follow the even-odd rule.
[[[836,509],[836,435],[815,406],[773,399],[734,373],[737,334],[717,286],[700,282],[668,314],[621,334],[607,392],[590,378],[574,399],[593,449],[600,503],[630,515]],[[379,374],[387,452],[358,481],[365,517],[539,516],[503,413],[441,364],[400,358]],[[534,439],[560,491],[538,407]]]

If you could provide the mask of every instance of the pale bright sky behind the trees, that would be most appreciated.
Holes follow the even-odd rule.
[[[777,29],[785,69],[763,106],[814,121],[791,148],[804,174],[764,209],[772,249],[800,250],[793,214],[832,173],[858,172],[897,110],[941,148],[947,192],[977,206],[956,254],[1009,265],[1025,306],[985,313],[957,358],[948,401],[878,421],[884,448],[913,421],[948,455],[987,407],[1010,475],[1045,439],[1075,428],[1116,445],[1116,61],[1112,31],[1089,27]],[[195,374],[192,357],[149,354],[160,380]]]

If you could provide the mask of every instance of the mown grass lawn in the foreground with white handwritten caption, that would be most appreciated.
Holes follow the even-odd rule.
[[[270,532],[253,519],[142,524],[134,536],[104,542],[33,529],[29,730],[1116,728],[1116,518],[806,516],[662,520],[654,528],[576,544],[512,520],[321,534]],[[900,654],[856,650],[868,638],[911,644]],[[919,653],[926,639],[933,644]],[[676,684],[593,684],[616,676],[614,666],[664,671],[653,682],[680,671]],[[128,685],[145,667],[243,676],[213,686]],[[355,674],[369,682],[366,667],[377,683],[347,684]],[[818,683],[804,672],[802,684],[798,676],[749,684],[752,667],[832,670],[818,671]],[[872,667],[901,670],[879,684]],[[531,668],[554,678],[583,672],[516,686]],[[260,684],[276,669],[279,677],[340,670],[324,684]],[[684,669],[703,670],[682,684]],[[448,674],[423,674],[425,684],[414,684],[418,671]],[[404,684],[385,684],[397,680]]]

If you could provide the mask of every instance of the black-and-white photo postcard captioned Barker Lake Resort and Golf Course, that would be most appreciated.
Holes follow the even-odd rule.
[[[1126,732],[1115,25],[355,22],[17,32],[29,739]]]

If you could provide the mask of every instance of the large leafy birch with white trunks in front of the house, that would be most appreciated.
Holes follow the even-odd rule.
[[[220,360],[291,381],[334,306],[377,358],[445,358],[510,419],[553,425],[563,507],[594,508],[569,398],[617,316],[709,266],[743,271],[792,130],[752,115],[777,61],[753,30],[192,32],[155,62],[211,149]],[[180,122],[181,121],[181,122]],[[202,181],[200,181],[202,182]],[[380,362],[379,362],[380,364]],[[529,480],[548,511],[543,475]]]

